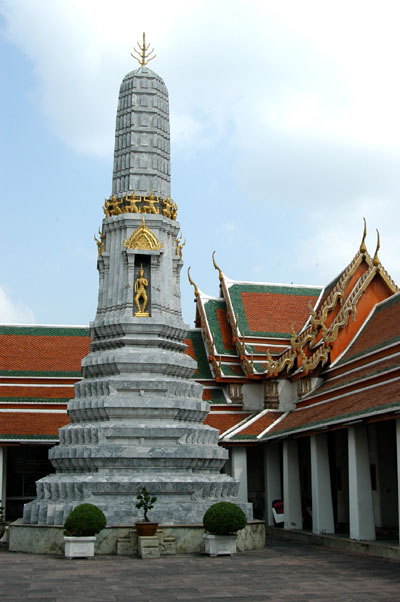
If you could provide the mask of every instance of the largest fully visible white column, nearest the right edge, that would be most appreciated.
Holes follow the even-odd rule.
[[[367,428],[348,429],[350,539],[375,539]]]

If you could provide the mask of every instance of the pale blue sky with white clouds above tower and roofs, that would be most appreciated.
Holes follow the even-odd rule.
[[[142,32],[170,96],[193,289],[324,285],[367,247],[400,283],[400,4],[0,0],[0,323],[88,324],[115,113]]]

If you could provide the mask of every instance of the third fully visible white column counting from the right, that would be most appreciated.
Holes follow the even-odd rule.
[[[283,511],[285,529],[302,529],[300,473],[297,441],[283,442]]]

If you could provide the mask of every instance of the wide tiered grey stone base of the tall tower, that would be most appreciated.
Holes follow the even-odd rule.
[[[63,524],[84,502],[101,508],[109,526],[133,524],[142,518],[135,504],[143,486],[157,496],[151,518],[162,524],[199,524],[211,504],[238,503],[238,482],[220,473],[227,451],[203,424],[208,404],[190,379],[193,360],[176,336],[166,338],[168,328],[159,330],[161,348],[151,318],[98,329],[83,361],[86,378],[68,404],[71,423],[50,451],[57,472],[37,482],[26,524]],[[252,518],[251,504],[240,506]]]

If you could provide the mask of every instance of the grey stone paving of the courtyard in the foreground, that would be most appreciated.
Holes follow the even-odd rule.
[[[67,560],[0,546],[4,602],[400,601],[400,562],[270,537],[233,557]]]

